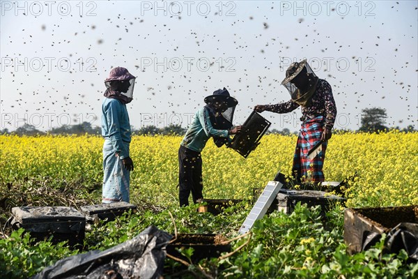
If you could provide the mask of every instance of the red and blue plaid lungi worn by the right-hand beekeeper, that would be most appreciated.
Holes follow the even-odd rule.
[[[295,155],[293,156],[293,176],[303,182],[323,182],[323,164],[327,142],[322,144],[322,151],[312,159],[308,159],[308,151],[320,141],[323,133],[323,116],[317,116],[302,123],[297,137]]]

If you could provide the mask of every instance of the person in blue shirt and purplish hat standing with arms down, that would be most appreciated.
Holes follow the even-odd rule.
[[[113,68],[104,81],[102,103],[103,188],[102,202],[129,202],[131,130],[126,104],[132,101],[135,77],[127,69]]]

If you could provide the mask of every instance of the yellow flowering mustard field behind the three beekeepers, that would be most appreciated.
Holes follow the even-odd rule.
[[[263,188],[278,171],[290,175],[296,139],[295,135],[265,135],[247,159],[232,149],[217,148],[209,140],[202,152],[204,197],[251,199],[253,188]],[[131,174],[131,203],[163,208],[178,204],[181,140],[176,136],[132,138],[135,169]],[[39,183],[31,181],[45,181],[45,189],[81,183],[99,203],[102,144],[101,137],[90,135],[0,135],[0,183],[9,188],[16,184],[34,188]],[[326,181],[354,177],[346,191],[346,205],[350,207],[418,204],[418,133],[333,135],[324,173]]]

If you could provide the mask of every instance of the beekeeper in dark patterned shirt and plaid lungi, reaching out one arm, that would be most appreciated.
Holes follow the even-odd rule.
[[[291,100],[276,105],[256,105],[254,110],[282,114],[302,107],[302,126],[293,156],[293,176],[297,182],[322,182],[325,179],[323,163],[327,141],[332,136],[336,117],[331,86],[326,80],[320,80],[315,75],[306,59],[292,63],[286,70],[286,78],[281,84],[291,94]],[[308,152],[320,141],[322,144],[317,150],[322,150],[309,159]]]

